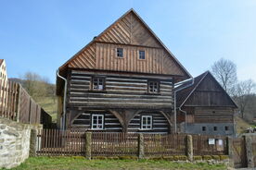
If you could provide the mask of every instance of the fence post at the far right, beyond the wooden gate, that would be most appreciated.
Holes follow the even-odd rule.
[[[245,136],[246,141],[246,155],[247,155],[247,166],[249,168],[254,167],[253,152],[252,152],[252,139],[250,135]]]

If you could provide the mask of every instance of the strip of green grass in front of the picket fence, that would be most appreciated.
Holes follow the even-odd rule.
[[[190,163],[174,163],[170,161],[152,161],[152,160],[85,160],[83,157],[33,157],[29,158],[15,170],[23,169],[227,169],[224,164],[190,164]]]

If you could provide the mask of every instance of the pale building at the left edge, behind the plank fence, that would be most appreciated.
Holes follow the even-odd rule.
[[[8,86],[7,84],[8,78],[7,78],[7,72],[6,72],[6,60],[0,59],[0,105],[2,106],[2,103],[5,103],[7,99],[7,92],[6,88]],[[4,106],[5,107],[5,106]],[[3,107],[0,107],[3,108]]]

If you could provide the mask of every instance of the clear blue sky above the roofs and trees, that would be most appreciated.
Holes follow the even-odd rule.
[[[224,57],[238,79],[256,81],[255,0],[0,0],[8,77],[32,71],[55,82],[58,67],[131,7],[192,76]]]

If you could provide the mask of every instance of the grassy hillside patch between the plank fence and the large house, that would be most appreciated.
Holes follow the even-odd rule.
[[[52,121],[57,120],[57,98],[54,100],[53,97],[41,97],[36,100],[37,103],[44,108],[45,112],[52,116]]]

